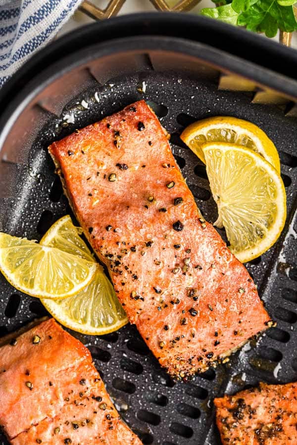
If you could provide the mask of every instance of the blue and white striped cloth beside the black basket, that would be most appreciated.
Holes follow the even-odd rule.
[[[69,20],[82,0],[0,0],[0,87]]]

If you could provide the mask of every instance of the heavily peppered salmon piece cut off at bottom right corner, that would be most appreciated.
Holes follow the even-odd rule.
[[[224,445],[297,444],[297,383],[260,383],[214,404]]]

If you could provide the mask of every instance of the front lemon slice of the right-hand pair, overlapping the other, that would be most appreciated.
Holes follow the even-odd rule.
[[[202,145],[206,172],[218,206],[217,227],[225,227],[230,250],[242,263],[266,252],[286,220],[282,178],[265,159],[241,145]]]

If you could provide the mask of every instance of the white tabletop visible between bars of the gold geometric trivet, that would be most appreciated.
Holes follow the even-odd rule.
[[[91,0],[92,3],[98,5],[100,8],[106,7],[108,4],[108,0]],[[174,5],[177,3],[177,0],[167,0],[168,5]],[[198,14],[200,9],[205,7],[213,7],[214,3],[211,0],[201,0],[200,3],[198,3],[197,6],[195,6],[188,14]],[[119,15],[123,14],[130,14],[132,12],[146,12],[146,11],[155,11],[154,6],[151,4],[149,0],[126,0],[124,5],[122,6]],[[93,23],[94,20],[90,17],[86,16],[80,11],[77,11],[74,14],[74,17],[69,20],[66,25],[62,28],[59,35],[62,35],[66,32],[72,31],[73,29],[83,26],[87,23]],[[265,38],[265,37],[264,37]],[[278,36],[275,37],[273,40],[278,41]],[[297,48],[297,33],[294,33],[292,46]]]

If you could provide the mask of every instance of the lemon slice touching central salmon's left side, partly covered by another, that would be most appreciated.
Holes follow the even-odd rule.
[[[95,261],[80,237],[81,233],[82,229],[75,227],[66,215],[49,228],[40,243]],[[128,323],[113,286],[99,264],[91,283],[74,297],[64,300],[43,298],[41,302],[61,324],[83,334],[107,334]]]

